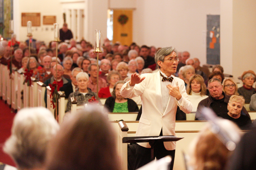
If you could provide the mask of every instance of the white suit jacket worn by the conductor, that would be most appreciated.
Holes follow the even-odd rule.
[[[181,99],[170,95],[166,110],[163,111],[162,94],[160,84],[160,71],[140,75],[145,79],[140,84],[130,86],[125,83],[121,89],[124,98],[134,98],[140,96],[142,100],[142,115],[136,136],[157,136],[163,129],[163,135],[175,135],[175,115],[177,106],[185,113],[192,111],[192,103],[186,93],[185,83],[177,77],[173,77],[172,86],[180,87]],[[178,82],[178,83],[177,83]],[[167,88],[167,87],[166,87]],[[148,143],[138,143],[143,147],[150,148]],[[175,142],[164,142],[166,150],[175,150]]]

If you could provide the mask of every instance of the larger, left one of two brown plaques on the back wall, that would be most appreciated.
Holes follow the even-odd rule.
[[[40,26],[40,13],[21,13],[21,26],[27,26],[28,21],[32,22],[32,26]]]

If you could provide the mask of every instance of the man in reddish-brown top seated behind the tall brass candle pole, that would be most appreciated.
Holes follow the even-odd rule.
[[[93,91],[97,93],[97,64],[96,63],[91,63],[88,67],[88,72],[90,73],[90,78],[89,78],[89,84],[88,87]],[[102,87],[106,87],[107,82],[99,77],[98,81],[98,88],[101,89]]]

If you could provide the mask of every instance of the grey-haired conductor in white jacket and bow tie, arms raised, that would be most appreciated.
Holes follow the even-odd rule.
[[[174,47],[160,49],[155,62],[158,72],[131,75],[131,80],[121,89],[124,98],[140,96],[142,115],[136,136],[175,135],[175,115],[177,107],[185,113],[192,111],[192,104],[186,93],[184,81],[173,76],[177,69],[178,55]],[[172,156],[173,168],[175,142],[159,142],[154,146],[154,157]],[[147,164],[151,158],[150,145],[138,143],[134,169]]]

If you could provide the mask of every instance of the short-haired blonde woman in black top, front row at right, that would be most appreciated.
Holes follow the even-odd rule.
[[[242,130],[248,130],[252,125],[252,121],[248,116],[241,114],[243,106],[243,96],[232,95],[227,104],[228,113],[219,113],[218,116],[233,121]]]

